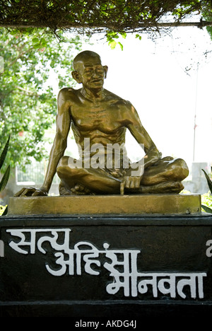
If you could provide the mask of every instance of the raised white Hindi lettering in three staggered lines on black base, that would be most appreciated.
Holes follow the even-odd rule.
[[[206,272],[139,272],[137,260],[141,250],[138,249],[111,249],[109,243],[103,243],[99,249],[88,241],[78,241],[71,248],[71,228],[16,228],[6,232],[11,234],[8,245],[20,254],[34,255],[37,251],[47,254],[50,247],[55,266],[46,262],[45,267],[54,277],[85,273],[98,276],[102,267],[112,278],[106,285],[107,294],[114,295],[122,289],[125,297],[151,291],[153,298],[164,294],[185,299],[188,292],[184,289],[189,288],[191,298],[204,298]]]

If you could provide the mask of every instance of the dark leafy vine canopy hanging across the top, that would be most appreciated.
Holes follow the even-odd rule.
[[[103,30],[107,36],[108,30],[158,32],[158,22],[166,16],[179,23],[203,12],[207,6],[211,6],[211,0],[0,0],[0,16],[5,27],[46,27],[52,33],[61,29],[76,29],[80,33]]]

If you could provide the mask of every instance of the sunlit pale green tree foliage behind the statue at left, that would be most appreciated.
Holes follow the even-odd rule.
[[[0,148],[10,135],[6,163],[11,167],[29,163],[30,157],[40,161],[46,156],[43,137],[57,112],[57,95],[48,81],[49,74],[54,69],[59,88],[73,86],[71,62],[80,50],[78,36],[68,38],[58,33],[57,38],[48,30],[33,28],[24,33],[0,29],[0,56],[4,59],[0,73]]]

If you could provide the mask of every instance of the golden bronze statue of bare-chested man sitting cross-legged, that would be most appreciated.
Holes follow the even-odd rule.
[[[182,158],[162,158],[134,106],[103,88],[107,66],[100,56],[81,52],[73,59],[73,69],[73,79],[82,87],[59,91],[57,132],[45,181],[39,189],[23,187],[15,196],[47,195],[56,172],[61,195],[181,192],[187,164]],[[78,159],[64,156],[70,128]],[[131,163],[126,155],[126,129],[143,146],[145,155],[138,162]]]

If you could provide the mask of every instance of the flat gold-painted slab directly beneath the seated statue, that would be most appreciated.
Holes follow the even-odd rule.
[[[9,199],[9,216],[37,214],[201,214],[201,195],[84,195]]]

